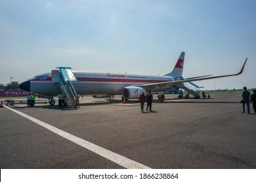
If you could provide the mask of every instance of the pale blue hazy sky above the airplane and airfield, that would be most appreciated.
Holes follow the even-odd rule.
[[[1,0],[0,83],[60,66],[165,75],[185,51],[184,77],[205,90],[256,88],[254,0]]]

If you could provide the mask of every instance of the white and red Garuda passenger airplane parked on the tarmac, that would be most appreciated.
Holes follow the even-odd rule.
[[[240,72],[231,75],[202,75],[199,77],[182,77],[184,68],[185,52],[180,54],[172,72],[163,76],[155,75],[139,75],[128,73],[102,73],[102,72],[85,72],[85,71],[68,71],[73,74],[74,80],[72,86],[75,92],[80,95],[93,95],[95,98],[106,98],[111,95],[122,95],[124,99],[135,99],[142,94],[151,91],[152,93],[165,92],[174,87],[185,89],[184,83],[192,81],[201,81],[206,79],[217,79],[221,77],[231,77],[240,75],[244,71],[247,58],[242,66]],[[66,67],[60,67],[66,68]],[[57,76],[56,76],[57,75]],[[52,70],[52,72],[42,73],[36,75],[32,79],[20,83],[19,87],[27,92],[33,92],[40,95],[41,98],[48,98],[50,105],[55,104],[54,96],[62,92],[59,79],[64,77],[59,73],[59,70]]]

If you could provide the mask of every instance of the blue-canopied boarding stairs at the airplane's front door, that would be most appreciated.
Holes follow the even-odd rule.
[[[59,86],[61,87],[63,96],[66,97],[66,107],[76,108],[76,90],[74,90],[74,86],[72,85],[72,82],[76,81],[76,77],[74,77],[71,68],[60,67],[59,71],[61,73]]]

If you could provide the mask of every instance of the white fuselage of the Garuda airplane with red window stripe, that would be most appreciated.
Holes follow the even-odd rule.
[[[150,83],[173,81],[169,76],[134,75],[126,73],[100,73],[73,71],[78,82],[72,83],[76,92],[80,94],[121,94],[126,86],[140,86]],[[61,92],[58,84],[52,83],[50,73],[35,76],[30,80],[31,90],[35,94],[56,96]],[[174,85],[155,88],[152,92],[160,92],[173,88]]]

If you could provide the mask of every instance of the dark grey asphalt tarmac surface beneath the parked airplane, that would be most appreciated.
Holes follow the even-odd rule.
[[[150,168],[256,168],[256,114],[241,113],[239,94],[166,98],[150,113],[119,96],[80,99],[80,109],[10,108]],[[2,169],[123,168],[6,107],[0,108],[0,132]]]

